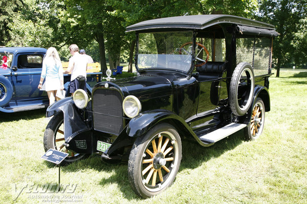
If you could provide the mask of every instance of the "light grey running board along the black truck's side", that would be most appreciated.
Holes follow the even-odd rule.
[[[246,127],[247,124],[240,124],[240,123],[230,123],[224,127],[221,127],[220,129],[217,129],[216,131],[213,131],[211,133],[208,133],[206,135],[203,135],[200,137],[200,140],[202,142],[205,142],[207,144],[213,144],[217,142],[218,140],[222,140],[225,137],[241,130]]]

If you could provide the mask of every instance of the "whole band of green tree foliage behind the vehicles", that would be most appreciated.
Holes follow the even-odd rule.
[[[277,67],[301,65],[307,61],[306,5],[307,0],[2,0],[0,45],[54,46],[68,58],[68,46],[77,44],[101,62],[102,71],[106,61],[112,68],[123,56],[131,70],[136,39],[133,32],[125,33],[128,25],[169,16],[230,14],[274,24],[280,33],[273,52]]]

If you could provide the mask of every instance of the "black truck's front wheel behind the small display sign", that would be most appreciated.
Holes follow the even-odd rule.
[[[66,165],[84,159],[88,155],[78,154],[66,149],[65,146],[61,146],[65,142],[63,121],[64,119],[62,112],[57,113],[51,118],[46,127],[45,134],[43,135],[43,148],[45,148],[45,152],[47,152],[49,149],[56,149],[59,151],[67,152],[69,156],[61,162],[61,165]]]

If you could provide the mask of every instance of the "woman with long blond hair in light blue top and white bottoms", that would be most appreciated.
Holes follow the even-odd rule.
[[[45,78],[45,91],[47,91],[49,105],[51,105],[55,100],[60,99],[56,97],[57,91],[64,89],[63,67],[59,54],[54,47],[49,47],[43,58],[38,89],[41,89],[43,79]]]

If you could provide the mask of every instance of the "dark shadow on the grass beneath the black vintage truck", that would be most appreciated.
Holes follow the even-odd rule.
[[[211,158],[217,158],[229,151],[244,141],[244,132],[239,131],[210,147],[203,147],[194,140],[185,139],[182,141],[182,160],[179,172],[185,169],[194,169],[209,161]],[[48,164],[48,167],[54,165]],[[129,185],[127,175],[127,164],[106,164],[101,161],[99,156],[92,155],[85,160],[72,163],[61,167],[63,172],[75,172],[80,169],[93,169],[95,171],[104,171],[112,173],[111,176],[102,179],[99,184],[103,188],[108,184],[117,184],[123,196],[128,199],[142,200]],[[89,176],[91,176],[89,174]],[[176,182],[176,181],[175,181]]]

